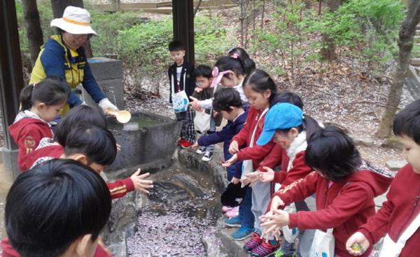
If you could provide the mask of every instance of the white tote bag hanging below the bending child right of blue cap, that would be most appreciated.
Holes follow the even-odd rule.
[[[335,237],[332,230],[333,228],[329,228],[327,232],[318,229],[315,231],[309,257],[334,257]]]

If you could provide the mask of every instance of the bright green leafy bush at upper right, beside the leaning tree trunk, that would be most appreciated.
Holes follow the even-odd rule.
[[[398,51],[396,38],[404,15],[398,0],[351,0],[316,20],[311,29],[328,34],[335,45],[351,47],[350,53],[375,73]]]

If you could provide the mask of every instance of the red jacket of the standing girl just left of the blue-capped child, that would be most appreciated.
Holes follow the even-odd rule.
[[[267,145],[257,145],[257,140],[260,134],[262,133],[262,127],[264,126],[264,118],[260,118],[263,110],[256,110],[255,108],[249,108],[248,117],[246,117],[246,122],[244,127],[232,138],[232,141],[237,141],[239,147],[246,145],[247,147],[241,149],[237,152],[238,161],[250,160],[252,159],[253,168],[265,171],[260,166],[260,163],[265,159],[269,152],[274,147],[275,143],[273,140],[270,140]],[[265,116],[265,115],[264,115]],[[257,126],[254,136],[253,147],[249,147],[251,143],[252,133]],[[265,166],[269,168],[274,168],[275,164],[278,163],[278,159],[271,158],[270,160],[265,161]]]

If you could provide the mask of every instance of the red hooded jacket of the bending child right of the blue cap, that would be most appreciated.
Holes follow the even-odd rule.
[[[346,251],[347,239],[374,215],[373,199],[386,192],[392,177],[390,172],[364,162],[357,172],[341,182],[331,184],[314,171],[277,191],[274,196],[279,196],[285,205],[289,205],[316,193],[317,211],[289,214],[290,228],[334,228],[335,254],[352,256]],[[368,256],[371,250],[372,247],[362,256]]]

